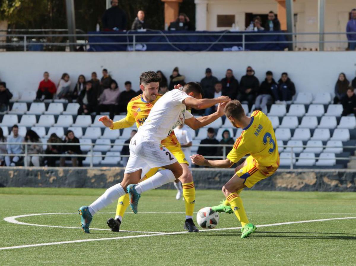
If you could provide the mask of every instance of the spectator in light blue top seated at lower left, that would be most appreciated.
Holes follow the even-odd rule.
[[[17,125],[12,126],[12,136],[7,137],[7,154],[21,154],[23,152],[22,144],[11,144],[15,142],[23,142],[23,137],[19,135],[19,127]],[[19,156],[5,156],[6,166],[19,166],[21,165],[23,158]]]

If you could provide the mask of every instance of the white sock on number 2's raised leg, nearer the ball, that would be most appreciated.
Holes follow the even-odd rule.
[[[166,169],[166,170],[159,171],[155,173],[152,177],[138,183],[135,189],[137,193],[141,194],[142,192],[161,187],[164,184],[173,182],[174,180],[176,180],[176,177],[174,177],[172,171]]]

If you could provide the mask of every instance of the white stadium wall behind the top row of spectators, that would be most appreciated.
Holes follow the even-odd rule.
[[[200,81],[205,68],[210,67],[218,79],[227,68],[239,80],[247,66],[255,69],[260,82],[268,70],[278,81],[282,72],[288,72],[297,92],[334,92],[340,72],[352,80],[355,77],[356,53],[345,52],[1,52],[0,79],[13,91],[37,90],[44,71],[56,84],[67,72],[72,87],[79,74],[90,79],[95,71],[107,68],[118,82],[120,90],[130,80],[138,90],[138,77],[147,70],[161,70],[169,79],[174,67],[186,76],[186,82]]]

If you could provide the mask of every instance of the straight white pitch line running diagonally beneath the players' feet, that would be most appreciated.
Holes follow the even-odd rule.
[[[331,221],[331,220],[345,220],[345,219],[356,219],[356,217],[342,217],[342,218],[328,218],[328,219],[316,219],[316,220],[305,220],[305,221],[292,221],[284,223],[275,223],[275,224],[261,224],[256,225],[257,227],[267,227],[267,226],[278,226],[278,225],[287,225],[287,224],[300,224],[300,223],[312,223],[317,221]],[[240,227],[230,227],[230,228],[216,228],[216,229],[206,229],[200,231],[223,231],[223,230],[234,230],[240,229]],[[21,246],[10,246],[10,247],[0,247],[0,250],[8,249],[21,249],[25,247],[37,247],[37,246],[50,246],[50,245],[60,245],[60,244],[71,244],[71,243],[81,243],[81,242],[90,242],[90,241],[103,241],[103,240],[116,240],[116,239],[128,239],[128,238],[143,238],[148,236],[158,236],[158,235],[178,235],[185,234],[187,231],[179,231],[172,233],[157,233],[157,234],[145,234],[145,235],[134,235],[134,236],[119,236],[116,238],[94,238],[94,239],[81,239],[81,240],[70,240],[70,241],[61,241],[61,242],[50,242],[50,243],[41,243],[41,244],[31,244],[31,245],[21,245]]]

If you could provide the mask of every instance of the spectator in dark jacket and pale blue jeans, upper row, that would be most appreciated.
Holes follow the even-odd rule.
[[[266,78],[261,83],[260,89],[257,91],[257,97],[255,101],[255,110],[260,110],[267,114],[267,104],[273,103],[272,91],[277,91],[277,83],[273,79],[272,71],[266,72]]]

